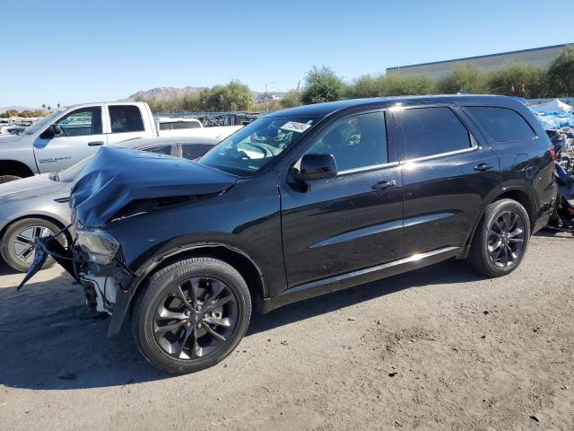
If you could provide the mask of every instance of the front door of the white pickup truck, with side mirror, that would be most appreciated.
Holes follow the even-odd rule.
[[[61,171],[105,145],[107,137],[102,131],[101,116],[101,105],[78,108],[54,123],[61,130],[59,135],[47,138],[40,133],[34,139],[34,156],[39,172]]]

